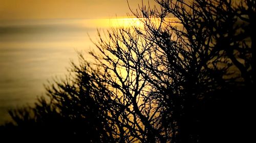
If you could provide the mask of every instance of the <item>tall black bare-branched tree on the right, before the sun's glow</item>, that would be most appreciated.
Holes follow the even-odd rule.
[[[141,139],[153,142],[220,141],[237,134],[232,130],[242,121],[229,121],[246,111],[236,104],[246,105],[254,84],[255,28],[248,19],[255,2],[156,2],[160,9],[142,4],[133,12],[143,27],[112,30],[109,40],[96,44],[108,86],[123,98],[124,111],[139,119],[127,122],[144,127],[137,130],[147,133]]]

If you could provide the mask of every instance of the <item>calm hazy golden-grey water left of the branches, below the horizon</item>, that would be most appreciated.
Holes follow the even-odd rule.
[[[9,108],[32,104],[47,80],[67,74],[76,51],[93,49],[96,28],[81,19],[0,21],[0,124]]]

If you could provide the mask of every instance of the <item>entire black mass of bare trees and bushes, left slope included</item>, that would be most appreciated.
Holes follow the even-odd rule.
[[[50,100],[10,111],[1,134],[84,142],[246,142],[255,94],[256,2],[156,0],[143,26],[100,35]],[[96,52],[97,51],[97,52]]]

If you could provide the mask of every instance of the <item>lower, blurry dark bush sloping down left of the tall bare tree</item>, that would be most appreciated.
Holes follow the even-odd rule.
[[[2,135],[113,141],[114,135],[108,133],[108,108],[114,106],[108,102],[108,90],[97,81],[97,71],[84,59],[80,61],[80,67],[72,63],[72,75],[66,80],[46,88],[49,98],[39,98],[33,107],[10,110],[15,124],[2,127]]]

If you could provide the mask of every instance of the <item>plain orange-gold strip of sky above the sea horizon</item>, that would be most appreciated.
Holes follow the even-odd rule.
[[[141,0],[129,0],[129,3],[135,10]],[[0,20],[100,18],[127,13],[130,10],[126,0],[0,0]]]

